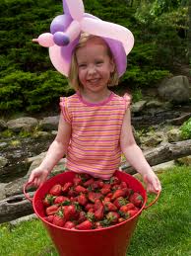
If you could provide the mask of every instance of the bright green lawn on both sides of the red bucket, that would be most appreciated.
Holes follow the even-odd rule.
[[[162,193],[143,211],[128,256],[191,255],[190,168],[175,167],[159,174]],[[58,256],[38,219],[17,226],[0,225],[1,256]],[[98,255],[97,255],[98,256]]]

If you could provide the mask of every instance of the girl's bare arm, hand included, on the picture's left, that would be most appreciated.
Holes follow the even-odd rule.
[[[51,143],[41,164],[32,170],[29,182],[32,182],[35,187],[38,187],[46,180],[53,167],[66,154],[68,144],[70,142],[70,137],[71,126],[64,121],[61,114],[58,125],[58,132],[54,141]]]

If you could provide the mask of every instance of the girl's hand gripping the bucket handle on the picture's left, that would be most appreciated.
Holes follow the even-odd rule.
[[[46,181],[48,174],[49,172],[47,170],[37,167],[32,170],[29,183],[32,183],[34,187],[39,187]]]

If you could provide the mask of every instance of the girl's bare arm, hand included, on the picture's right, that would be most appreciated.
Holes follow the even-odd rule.
[[[147,162],[141,148],[137,145],[131,128],[130,110],[126,111],[121,129],[120,145],[127,161],[139,172],[147,184],[149,192],[161,190],[159,179]]]

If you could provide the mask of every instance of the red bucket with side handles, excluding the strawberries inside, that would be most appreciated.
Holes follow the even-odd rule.
[[[92,230],[71,230],[56,226],[44,219],[45,213],[42,204],[42,199],[48,193],[50,188],[56,183],[63,185],[66,182],[73,180],[74,172],[65,172],[54,176],[47,180],[39,187],[33,199],[29,198],[26,193],[26,188],[30,184],[24,186],[24,194],[28,200],[32,202],[34,213],[42,220],[47,229],[56,249],[61,256],[125,256],[130,238],[136,227],[139,215],[143,210],[151,207],[159,198],[159,194],[154,202],[146,207],[147,193],[143,185],[133,176],[116,171],[114,176],[121,181],[126,182],[131,189],[139,192],[144,199],[144,204],[140,211],[127,220],[115,224],[113,226],[104,227],[101,229]]]

